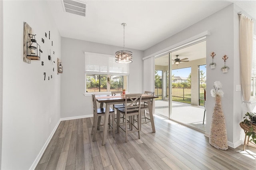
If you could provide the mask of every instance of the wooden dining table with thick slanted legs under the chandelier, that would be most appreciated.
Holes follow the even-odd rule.
[[[153,118],[153,99],[158,98],[158,96],[152,95],[142,95],[142,102],[148,102],[148,111],[151,120],[152,132],[156,132],[154,118]],[[106,137],[107,137],[107,125],[108,125],[108,117],[109,117],[109,107],[110,105],[116,105],[120,103],[125,103],[125,97],[120,95],[110,96],[110,95],[98,95],[96,96],[97,101],[100,103],[100,108],[103,108],[103,104],[106,103],[106,111],[104,116],[104,125],[103,125],[103,139],[102,145],[106,144]]]

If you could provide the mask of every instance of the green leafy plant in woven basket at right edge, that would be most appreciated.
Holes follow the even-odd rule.
[[[247,112],[244,121],[240,123],[240,127],[244,129],[248,138],[251,137],[250,142],[256,144],[256,113]]]

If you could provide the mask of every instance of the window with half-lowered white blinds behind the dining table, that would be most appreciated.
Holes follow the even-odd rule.
[[[85,52],[86,92],[122,91],[128,87],[129,65],[112,55]]]

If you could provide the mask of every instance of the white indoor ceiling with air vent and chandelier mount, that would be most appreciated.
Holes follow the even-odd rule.
[[[256,1],[80,0],[86,17],[64,12],[61,0],[48,5],[60,36],[145,50],[233,2],[256,18]],[[120,50],[120,49],[117,49]]]

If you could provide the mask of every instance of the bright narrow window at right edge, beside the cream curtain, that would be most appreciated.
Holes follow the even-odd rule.
[[[256,35],[253,38],[251,96],[256,97]]]

